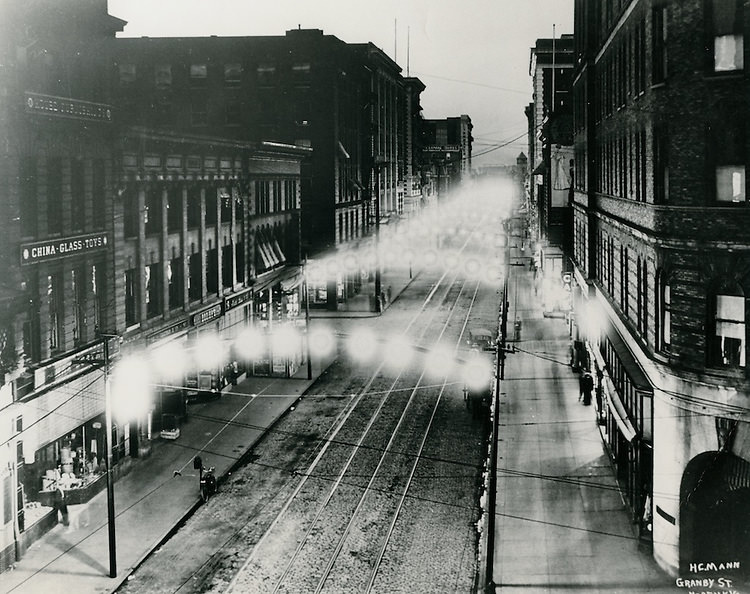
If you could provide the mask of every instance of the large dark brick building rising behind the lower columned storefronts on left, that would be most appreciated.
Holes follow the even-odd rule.
[[[406,147],[411,106],[424,86],[407,84],[373,44],[296,29],[267,37],[120,38],[116,47],[129,121],[312,147],[301,180],[303,256],[317,260],[366,244],[376,202],[381,216],[403,213],[405,188],[419,178]],[[371,272],[339,270],[311,287],[311,304],[336,308]]]

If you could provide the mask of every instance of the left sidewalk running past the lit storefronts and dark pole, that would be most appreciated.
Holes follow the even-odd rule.
[[[388,305],[410,281],[408,276],[394,275]],[[361,318],[380,315],[341,311],[314,312],[311,317],[333,318],[338,331],[347,332]],[[204,464],[214,466],[217,477],[230,472],[330,363],[314,359],[311,380],[305,365],[288,379],[246,378],[226,388],[219,399],[191,404],[176,441],[152,442],[150,455],[135,460],[131,472],[114,485],[116,578],[109,577],[104,490],[86,504],[69,506],[69,527],[55,526],[32,543],[15,569],[0,574],[0,593],[114,592],[199,505],[193,458],[200,455]]]

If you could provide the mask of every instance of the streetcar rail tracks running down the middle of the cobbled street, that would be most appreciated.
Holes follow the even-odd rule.
[[[428,349],[448,343],[455,355],[479,289],[478,281],[444,273],[404,334]],[[377,366],[341,411],[228,591],[391,591],[394,579],[409,579],[403,573],[392,575],[402,548],[393,542],[408,532],[404,510],[425,499],[425,475],[432,473],[439,480],[435,473],[440,466],[443,471],[452,467],[449,473],[461,467],[425,456],[444,394],[452,391],[456,399],[460,389],[455,378],[440,372],[430,377],[424,368],[404,368],[392,375],[385,371],[383,363]],[[445,426],[446,419],[441,423]],[[439,442],[441,436],[432,439]],[[458,481],[462,479],[459,473]],[[435,505],[429,498],[423,503],[428,508]],[[473,517],[476,510],[471,505],[469,509]],[[471,525],[469,517],[465,525]],[[472,560],[471,555],[462,558],[464,563]],[[380,579],[383,570],[389,576],[385,581]]]

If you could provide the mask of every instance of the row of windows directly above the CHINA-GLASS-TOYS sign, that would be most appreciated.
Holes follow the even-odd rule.
[[[24,237],[104,229],[104,160],[24,156],[19,162],[18,198]],[[69,228],[63,225],[64,210],[70,215]]]

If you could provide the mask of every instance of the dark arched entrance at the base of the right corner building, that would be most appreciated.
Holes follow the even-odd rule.
[[[727,452],[700,454],[685,469],[680,503],[681,571],[739,562],[735,575],[750,576],[750,463]]]

